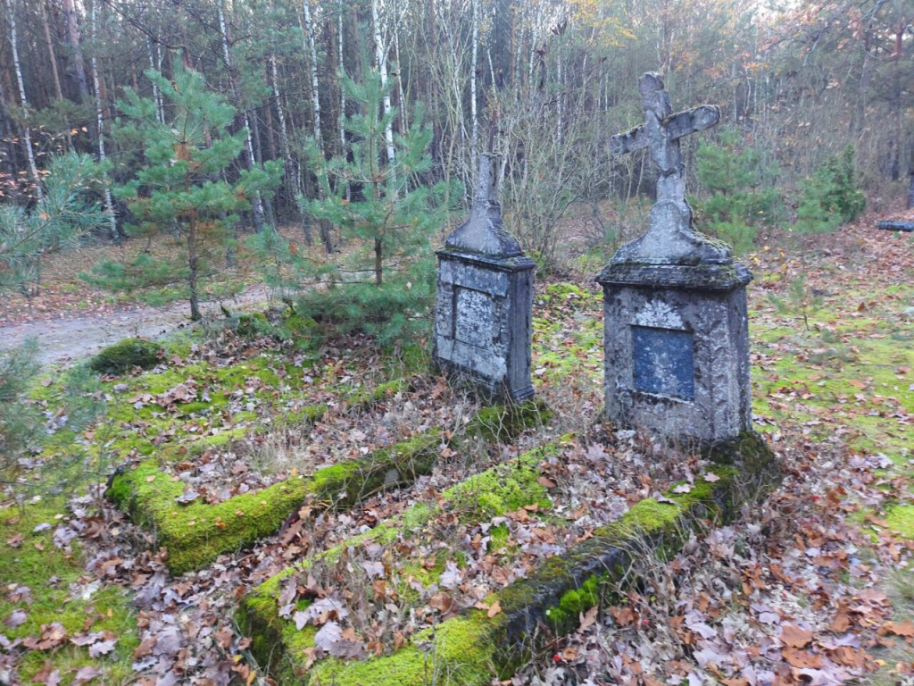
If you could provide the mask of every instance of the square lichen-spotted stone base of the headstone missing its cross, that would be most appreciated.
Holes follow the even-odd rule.
[[[488,400],[523,402],[530,383],[534,262],[438,251],[433,358],[454,381]]]

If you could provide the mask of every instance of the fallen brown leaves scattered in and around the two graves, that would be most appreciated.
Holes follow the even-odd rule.
[[[852,238],[859,240],[859,231]],[[895,256],[909,261],[909,255]],[[885,270],[877,273],[886,278]],[[568,314],[561,308],[551,312],[556,318]],[[599,319],[599,312],[593,316]],[[573,326],[569,322],[568,328]],[[547,342],[560,344],[558,338]],[[338,359],[345,359],[345,353]],[[754,361],[765,364],[764,359]],[[344,370],[343,376],[359,378],[363,364],[363,359],[353,359],[349,366],[334,367]],[[317,387],[314,397],[322,385],[315,380],[322,379],[325,367],[315,365],[302,372],[303,379]],[[199,388],[188,385],[180,393],[190,398],[192,391],[199,397]],[[447,391],[436,398],[437,404],[423,402],[429,391],[400,394],[396,401],[370,411],[331,412],[306,438],[284,434],[280,443],[292,454],[290,463],[310,460],[302,463],[309,465],[306,468],[364,455],[422,426],[447,425],[449,413],[462,401]],[[677,459],[632,432],[601,427],[600,393],[592,384],[569,391],[543,383],[539,392],[554,406],[572,403],[587,427],[579,432],[579,441],[540,466],[537,481],[548,489],[553,507],[547,512],[521,508],[463,528],[444,512],[432,522],[425,539],[352,548],[341,558],[342,566],[294,579],[283,589],[285,606],[291,608],[302,598],[312,601],[301,615],[289,615],[302,627],[318,627],[315,652],[352,658],[383,654],[399,648],[418,628],[462,607],[482,606],[494,616],[500,607],[482,602],[491,590],[526,575],[543,558],[561,554],[638,499],[657,496],[677,481],[688,488],[696,478],[708,478],[704,465]],[[798,392],[800,397],[806,391]],[[794,400],[788,396],[784,402]],[[239,397],[242,401],[247,409],[251,401]],[[170,407],[162,409],[168,412]],[[889,408],[905,421],[898,402]],[[765,418],[760,419],[764,424]],[[403,429],[404,422],[408,430]],[[908,564],[912,544],[878,526],[877,518],[875,529],[868,532],[851,518],[863,508],[884,511],[899,498],[909,501],[909,483],[897,474],[887,476],[885,456],[849,451],[846,434],[811,440],[817,426],[786,423],[771,436],[787,474],[771,498],[745,508],[731,526],[693,535],[670,563],[647,564],[643,583],[629,589],[621,604],[582,614],[578,631],[553,639],[540,659],[503,683],[837,684],[859,681],[875,670],[881,650],[914,637],[914,625],[895,617],[883,590],[887,571]],[[567,427],[555,431],[559,428]],[[55,525],[53,541],[64,548],[80,539],[83,546],[87,575],[74,592],[91,594],[93,580],[103,579],[122,584],[133,594],[140,633],[133,652],[138,683],[251,683],[260,677],[249,659],[250,638],[239,636],[228,619],[240,595],[289,563],[370,531],[415,502],[434,502],[443,488],[488,463],[510,459],[525,441],[532,445],[546,434],[540,431],[536,438],[527,436],[502,452],[473,456],[472,464],[444,459],[414,488],[379,494],[348,512],[315,514],[306,504],[275,536],[176,579],[167,573],[164,553],[152,549],[148,533],[100,498],[101,485],[72,499],[69,516]],[[193,493],[196,498],[218,498],[220,489],[244,488],[247,470],[234,475],[232,470],[250,462],[256,448],[238,450],[233,445],[224,454],[213,451],[208,462],[200,459],[199,466],[177,470],[175,477],[186,478],[186,498]],[[207,467],[213,463],[216,466]],[[249,488],[266,483],[252,481]],[[505,530],[507,542],[499,547],[492,541],[494,528]],[[10,547],[21,544],[6,542]],[[509,548],[514,554],[506,554]],[[462,552],[464,566],[455,563],[455,552]],[[402,602],[393,578],[407,573],[403,568],[410,562],[420,568],[435,563],[431,579],[426,576],[430,583],[414,578],[406,584],[419,596],[419,606],[415,598]],[[5,617],[6,625],[13,626],[25,619],[29,589],[13,584],[5,593],[23,605]],[[103,632],[68,636],[63,627],[50,624],[33,637],[0,637],[0,657],[4,664],[15,665],[16,655],[24,649],[53,655],[69,641],[95,648],[104,659],[116,640]],[[891,667],[899,680],[912,678],[909,663]],[[94,667],[81,668],[74,682],[90,682],[100,673]],[[60,680],[48,662],[33,681]]]

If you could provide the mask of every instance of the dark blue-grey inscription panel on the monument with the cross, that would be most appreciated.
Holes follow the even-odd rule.
[[[669,328],[632,327],[634,387],[695,400],[692,334]]]

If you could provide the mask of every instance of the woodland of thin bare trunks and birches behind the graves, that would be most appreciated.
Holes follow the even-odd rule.
[[[323,192],[315,168],[322,158],[352,159],[345,116],[366,110],[345,77],[381,81],[388,159],[393,136],[409,135],[423,104],[431,164],[412,183],[457,181],[448,191],[457,204],[472,196],[476,155],[490,145],[497,113],[492,146],[502,155],[509,229],[547,258],[569,211],[605,237],[612,211],[598,203],[650,190],[643,156],[609,153],[611,135],[641,121],[635,84],[646,70],[664,74],[677,109],[721,106],[723,125],[705,137],[723,136],[743,166],[749,158],[739,155],[751,153],[746,183],[777,188],[786,202],[770,219],[795,219],[798,184],[848,145],[871,196],[904,193],[914,166],[910,0],[3,0],[0,8],[0,200],[34,203],[49,155],[87,153],[107,160],[92,192],[109,213],[96,233],[114,239],[130,214],[108,187],[134,178],[142,158],[136,138],[117,135],[125,89],[168,123],[170,93],[149,70],[174,83],[180,64],[236,108],[228,130],[245,132],[244,152],[223,178],[282,161],[275,192],[251,198],[248,223],[301,225],[309,241],[320,225],[309,202]],[[693,155],[696,142],[686,147]],[[706,179],[692,177],[696,195],[714,190]]]

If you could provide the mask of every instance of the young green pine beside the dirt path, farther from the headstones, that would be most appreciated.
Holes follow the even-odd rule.
[[[156,258],[142,251],[128,264],[107,261],[86,278],[112,290],[140,289],[147,295],[161,296],[176,287],[196,321],[205,286],[221,272],[233,245],[238,213],[250,209],[251,198],[277,187],[282,162],[242,169],[228,181],[229,167],[248,136],[246,129],[228,131],[235,109],[179,60],[172,80],[153,70],[147,76],[165,98],[166,120],[160,122],[154,100],[126,90],[119,107],[127,122],[116,133],[143,146],[143,161],[136,177],[114,193],[133,214],[126,227],[129,236],[171,235],[175,250]]]

